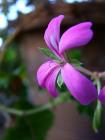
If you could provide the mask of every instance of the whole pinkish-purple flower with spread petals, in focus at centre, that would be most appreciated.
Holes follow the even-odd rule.
[[[97,99],[97,90],[89,79],[66,62],[64,52],[68,49],[84,46],[91,40],[93,36],[92,23],[83,22],[73,26],[60,38],[60,24],[63,18],[63,15],[53,18],[44,34],[47,46],[60,61],[50,60],[42,64],[37,72],[38,83],[56,97],[58,95],[56,79],[60,73],[72,96],[81,104],[87,105]],[[100,100],[103,99],[102,96],[103,94],[100,95]]]

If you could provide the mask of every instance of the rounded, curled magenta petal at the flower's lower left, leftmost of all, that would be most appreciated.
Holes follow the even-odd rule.
[[[58,64],[55,61],[47,61],[39,67],[37,71],[37,80],[40,86],[45,87],[46,78],[56,67],[58,67]]]

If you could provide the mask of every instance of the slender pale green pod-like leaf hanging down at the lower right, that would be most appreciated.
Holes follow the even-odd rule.
[[[97,133],[99,128],[102,125],[102,105],[100,101],[97,102],[96,109],[94,111],[94,116],[93,116],[93,129]]]

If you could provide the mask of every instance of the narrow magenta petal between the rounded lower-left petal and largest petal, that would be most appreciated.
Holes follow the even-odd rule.
[[[45,84],[46,88],[53,97],[56,97],[58,95],[57,89],[56,89],[56,78],[59,71],[60,71],[60,67],[55,68],[54,71],[52,71],[46,79],[46,84]]]

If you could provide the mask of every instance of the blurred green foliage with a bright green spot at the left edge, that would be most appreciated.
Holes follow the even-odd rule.
[[[25,84],[26,68],[21,62],[18,46],[14,43],[5,51],[0,62],[0,92],[6,95],[16,95]]]

